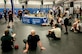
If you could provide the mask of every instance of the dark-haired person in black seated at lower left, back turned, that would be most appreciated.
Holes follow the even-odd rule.
[[[1,37],[1,49],[3,52],[11,51],[12,50],[12,43],[13,39],[9,35],[9,30],[5,31],[5,35]]]

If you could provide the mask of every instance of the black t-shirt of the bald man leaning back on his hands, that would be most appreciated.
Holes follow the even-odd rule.
[[[40,41],[40,38],[38,35],[32,36],[29,35],[28,36],[28,45],[29,45],[29,49],[30,50],[35,50],[37,48],[37,42]]]

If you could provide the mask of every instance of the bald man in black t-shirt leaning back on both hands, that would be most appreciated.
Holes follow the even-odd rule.
[[[28,52],[28,50],[36,50],[37,49],[37,44],[39,45],[41,50],[45,49],[42,46],[39,35],[35,34],[35,30],[31,31],[31,34],[28,36],[28,40],[25,44],[26,44],[26,49],[23,51],[24,53]]]

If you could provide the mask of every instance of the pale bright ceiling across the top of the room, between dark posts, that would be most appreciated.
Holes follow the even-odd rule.
[[[26,0],[13,0],[14,2],[14,6],[17,7],[17,8],[20,8],[22,5],[25,5],[25,2]],[[28,5],[25,5],[25,7],[30,7],[30,8],[40,8],[41,6],[41,1],[42,0],[28,0]],[[53,5],[53,1],[55,1],[55,4],[62,4],[63,2],[67,2],[69,3],[70,1],[72,0],[43,0],[43,7],[50,7],[52,8],[52,5]],[[75,1],[74,1],[75,2]],[[82,2],[82,0],[78,0],[78,2]],[[76,3],[78,3],[76,2]],[[8,8],[11,8],[11,2],[10,0],[6,0],[6,6]],[[0,0],[0,7],[4,8],[4,0]]]

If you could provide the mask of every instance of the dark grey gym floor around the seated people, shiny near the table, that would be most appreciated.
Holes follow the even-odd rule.
[[[7,23],[3,20],[0,22],[0,38],[6,29]],[[70,28],[70,27],[69,27]],[[14,23],[14,32],[16,35],[15,45],[19,45],[19,49],[11,52],[2,52],[0,49],[0,54],[23,54],[24,43],[23,39],[27,39],[30,31],[32,29],[36,30],[36,33],[40,36],[41,42],[46,50],[41,51],[38,47],[36,51],[29,51],[26,54],[82,54],[82,34],[70,32],[68,35],[64,34],[62,31],[62,38],[60,41],[48,40],[46,34],[48,30],[51,29],[50,26],[39,26],[31,24],[23,24],[22,22]],[[1,41],[0,41],[1,45]],[[1,46],[0,46],[1,48]]]

